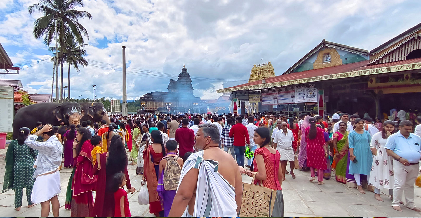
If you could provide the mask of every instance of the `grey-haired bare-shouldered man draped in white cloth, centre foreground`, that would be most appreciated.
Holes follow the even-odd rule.
[[[181,170],[168,217],[237,217],[241,206],[240,169],[218,148],[219,129],[202,124],[195,136],[200,152],[190,155]]]

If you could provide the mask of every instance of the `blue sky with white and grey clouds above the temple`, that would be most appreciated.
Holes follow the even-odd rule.
[[[51,93],[53,64],[43,40],[32,35],[28,14],[37,0],[1,0],[0,43],[29,93]],[[92,19],[81,20],[90,66],[71,69],[71,97],[122,96],[126,46],[127,95],[167,91],[186,65],[193,93],[248,81],[253,64],[272,61],[281,75],[323,39],[372,50],[421,22],[418,0],[84,0]],[[54,43],[51,45],[53,46]],[[67,66],[64,66],[67,85]],[[54,85],[55,86],[55,85]]]

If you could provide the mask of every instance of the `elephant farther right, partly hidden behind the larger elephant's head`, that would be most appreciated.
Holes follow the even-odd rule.
[[[101,122],[105,120],[110,124],[107,110],[102,102],[77,102],[82,107],[82,118],[80,122],[91,120],[93,122]]]

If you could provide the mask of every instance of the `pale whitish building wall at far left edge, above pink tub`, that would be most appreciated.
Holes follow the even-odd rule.
[[[15,107],[13,104],[13,87],[0,86],[0,133],[12,132]]]

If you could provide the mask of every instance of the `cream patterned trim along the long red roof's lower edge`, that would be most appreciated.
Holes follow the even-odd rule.
[[[288,80],[288,81],[282,81],[282,82],[272,82],[272,83],[250,85],[250,86],[245,85],[245,86],[236,87],[236,88],[225,88],[225,89],[216,90],[216,93],[233,92],[233,91],[240,91],[240,90],[244,91],[244,90],[259,90],[259,89],[265,89],[265,88],[277,88],[277,87],[301,84],[301,83],[306,83],[306,82],[316,82],[316,81],[322,81],[322,80],[333,80],[333,79],[341,79],[341,78],[348,78],[348,77],[367,76],[367,75],[382,74],[382,73],[389,73],[389,72],[400,72],[400,71],[413,70],[413,69],[421,69],[421,62],[412,63],[412,64],[402,64],[402,65],[397,65],[397,66],[384,66],[384,67],[379,67],[379,68],[374,68],[374,69],[363,69],[363,70],[336,73],[336,74],[334,73],[334,74],[328,74],[324,76],[308,77],[308,78],[303,78],[303,79]]]

